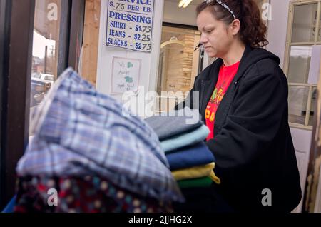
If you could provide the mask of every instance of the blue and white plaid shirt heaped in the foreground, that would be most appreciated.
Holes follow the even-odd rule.
[[[31,118],[19,176],[103,176],[160,201],[183,201],[158,136],[141,118],[67,69]]]

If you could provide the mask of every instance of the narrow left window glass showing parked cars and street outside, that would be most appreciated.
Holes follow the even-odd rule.
[[[34,44],[32,46],[31,111],[41,103],[57,78],[61,0],[36,0]],[[53,74],[47,76],[46,74]]]

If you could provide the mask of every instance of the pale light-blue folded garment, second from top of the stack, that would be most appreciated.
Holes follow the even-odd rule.
[[[189,133],[183,133],[181,135],[168,138],[165,141],[161,141],[161,148],[164,152],[175,151],[178,148],[204,141],[205,138],[208,137],[209,133],[210,130],[208,129],[208,126],[202,125]]]

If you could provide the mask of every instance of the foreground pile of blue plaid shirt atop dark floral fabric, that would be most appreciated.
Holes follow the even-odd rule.
[[[171,212],[184,201],[153,129],[72,69],[31,119],[15,212]]]

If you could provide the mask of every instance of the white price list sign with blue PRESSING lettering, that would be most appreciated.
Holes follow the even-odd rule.
[[[108,0],[107,46],[151,52],[154,0]]]

